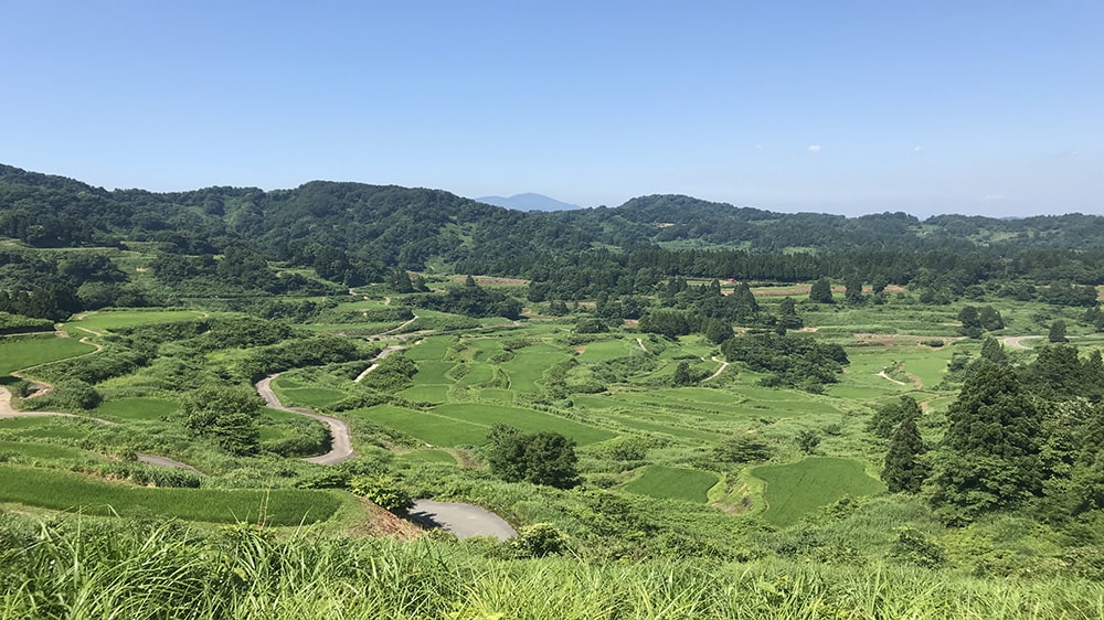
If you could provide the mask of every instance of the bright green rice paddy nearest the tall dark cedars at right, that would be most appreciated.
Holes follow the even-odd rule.
[[[885,490],[853,459],[809,457],[796,463],[761,466],[752,470],[752,475],[766,482],[768,507],[763,519],[775,525],[793,524],[843,495],[871,495]]]

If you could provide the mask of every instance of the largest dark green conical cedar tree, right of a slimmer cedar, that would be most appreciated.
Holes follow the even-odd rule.
[[[932,503],[955,517],[1012,509],[1042,488],[1042,416],[1012,368],[979,367],[947,409]]]

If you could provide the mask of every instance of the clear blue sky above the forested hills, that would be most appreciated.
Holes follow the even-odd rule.
[[[1104,214],[1104,1],[0,0],[0,162]]]

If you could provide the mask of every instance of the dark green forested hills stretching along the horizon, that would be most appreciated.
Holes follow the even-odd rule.
[[[455,194],[395,185],[312,181],[294,190],[208,188],[106,191],[0,165],[0,236],[35,247],[161,242],[168,252],[217,253],[234,244],[273,258],[314,260],[319,247],[365,263],[523,265],[593,247],[808,250],[1104,249],[1104,217],[996,220],[904,213],[861,217],[772,213],[681,195],[618,207],[521,213]],[[301,260],[300,260],[301,261]]]

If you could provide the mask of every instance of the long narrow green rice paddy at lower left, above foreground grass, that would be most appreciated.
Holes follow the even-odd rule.
[[[105,516],[299,525],[333,515],[339,500],[308,489],[155,489],[68,471],[0,466],[0,501]]]

